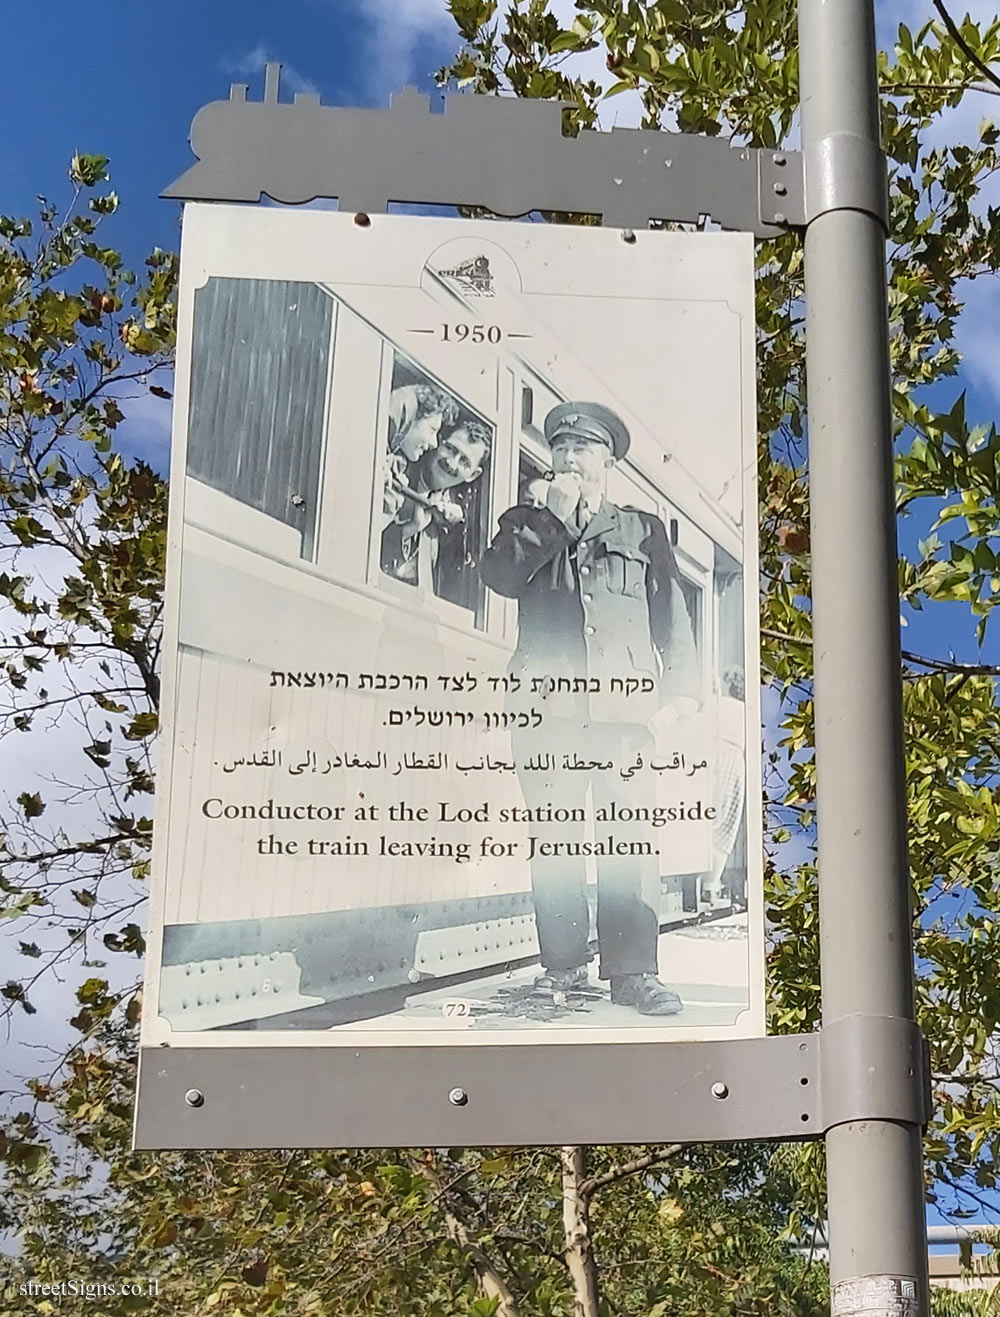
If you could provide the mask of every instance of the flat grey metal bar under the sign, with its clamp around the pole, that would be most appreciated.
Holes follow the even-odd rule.
[[[868,1017],[661,1046],[146,1047],[140,1071],[137,1148],[816,1139],[929,1110],[917,1027]]]

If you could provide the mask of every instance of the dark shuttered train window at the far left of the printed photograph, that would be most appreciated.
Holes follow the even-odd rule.
[[[212,278],[195,292],[187,471],[277,518],[312,558],[333,304],[315,283]]]

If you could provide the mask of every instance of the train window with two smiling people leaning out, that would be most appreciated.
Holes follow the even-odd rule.
[[[379,564],[404,585],[473,614],[489,536],[495,428],[401,352],[393,358]]]

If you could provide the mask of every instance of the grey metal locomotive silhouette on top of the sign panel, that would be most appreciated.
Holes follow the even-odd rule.
[[[287,204],[337,198],[341,209],[373,213],[391,202],[477,205],[507,217],[553,211],[634,229],[710,220],[759,238],[806,223],[797,151],[656,129],[570,137],[565,107],[549,100],[453,95],[433,113],[431,99],[412,88],[389,109],[323,105],[304,94],[286,104],[278,91],[279,66],[269,65],[264,100],[248,100],[237,84],[229,100],[204,105],[191,125],[199,161],[163,195],[266,195]]]

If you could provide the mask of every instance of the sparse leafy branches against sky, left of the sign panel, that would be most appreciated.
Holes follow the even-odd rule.
[[[74,158],[65,213],[41,199],[37,225],[0,220],[0,738],[62,735],[71,777],[36,778],[5,813],[3,915],[34,961],[0,988],[7,1015],[33,1011],[33,985],[70,957],[142,951],[166,485],[115,437],[129,391],[170,396],[152,379],[173,350],[177,261],[154,252],[140,283],[100,244],[117,207],[105,166]],[[74,832],[83,799],[96,834]],[[113,1006],[105,988],[80,989],[84,1033]]]

